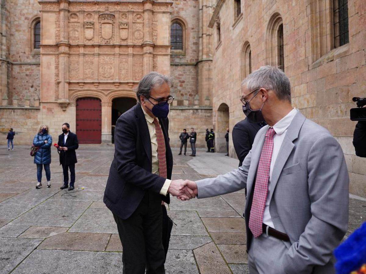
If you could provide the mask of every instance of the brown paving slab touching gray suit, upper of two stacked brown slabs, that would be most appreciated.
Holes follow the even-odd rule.
[[[209,232],[245,232],[243,218],[202,218]]]

